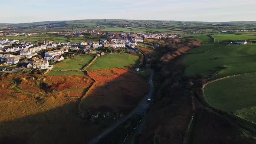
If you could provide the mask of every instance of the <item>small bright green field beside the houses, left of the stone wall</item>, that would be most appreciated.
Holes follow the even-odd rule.
[[[65,62],[62,62],[56,66],[54,66],[53,69],[82,69],[85,64],[90,62],[94,56],[76,56],[74,59],[67,59]]]

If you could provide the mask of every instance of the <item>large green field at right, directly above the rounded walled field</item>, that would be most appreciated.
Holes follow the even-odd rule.
[[[208,46],[208,47],[207,47]],[[255,72],[256,45],[210,44],[192,49],[182,61],[184,75],[219,79],[224,76]]]

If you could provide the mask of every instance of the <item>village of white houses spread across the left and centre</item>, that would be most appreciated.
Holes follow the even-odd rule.
[[[58,32],[60,33],[60,32]],[[30,33],[31,34],[31,33]],[[77,35],[78,33],[73,33]],[[14,33],[12,33],[14,35]],[[26,34],[28,35],[28,34]],[[24,36],[24,34],[23,34]],[[102,54],[102,49],[112,53],[116,50],[128,48],[128,52],[138,52],[136,46],[143,43],[144,38],[174,38],[179,35],[172,34],[149,34],[149,33],[120,33],[118,39],[115,35],[110,35],[108,39],[99,39],[98,41],[82,42],[62,42],[44,41],[43,43],[21,42],[19,40],[0,39],[0,61],[6,65],[16,65],[23,59],[32,59],[23,62],[22,67],[33,69],[52,69],[49,61],[59,62],[72,55],[80,53],[88,55]],[[72,52],[72,53],[71,53]],[[104,55],[104,52],[103,52]]]

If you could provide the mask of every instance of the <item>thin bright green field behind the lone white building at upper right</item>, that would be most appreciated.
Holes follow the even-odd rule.
[[[238,34],[222,34],[222,35],[211,35],[215,39],[215,43],[219,42],[225,42],[228,40],[234,41],[234,40],[248,40],[248,39],[256,39],[256,36],[254,35],[238,35]]]

